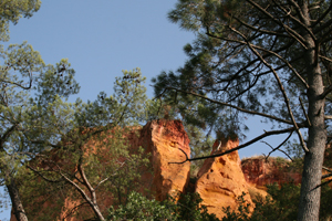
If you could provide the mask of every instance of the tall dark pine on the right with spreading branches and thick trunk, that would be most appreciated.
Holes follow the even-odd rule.
[[[235,126],[225,134],[239,131],[241,117],[253,115],[279,126],[236,149],[295,134],[304,151],[299,221],[319,219],[332,118],[331,14],[331,0],[179,0],[169,19],[197,40],[185,46],[184,67],[155,80],[157,96],[199,97],[217,106],[217,118],[231,109]],[[308,140],[300,129],[308,129]]]

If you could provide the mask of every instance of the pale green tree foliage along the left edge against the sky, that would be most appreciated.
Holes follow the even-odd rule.
[[[9,40],[10,22],[30,18],[40,4],[39,0],[1,1],[0,41]],[[27,171],[21,166],[68,131],[63,126],[70,124],[72,113],[65,98],[80,87],[66,59],[45,65],[27,42],[0,45],[0,183],[10,191],[12,204],[24,209],[14,193]]]

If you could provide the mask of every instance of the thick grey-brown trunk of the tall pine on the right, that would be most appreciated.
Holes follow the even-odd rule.
[[[310,29],[307,1],[299,2],[301,3],[301,9],[307,20],[304,23],[308,29]],[[305,46],[308,48],[304,59],[308,64],[307,73],[309,90],[307,96],[309,101],[308,115],[311,127],[309,127],[309,152],[304,156],[298,221],[319,221],[321,188],[317,187],[321,183],[326,143],[324,123],[325,99],[320,97],[324,91],[324,85],[315,53],[319,48],[315,45],[315,42],[309,32],[304,29],[302,30],[302,36],[305,40]]]

